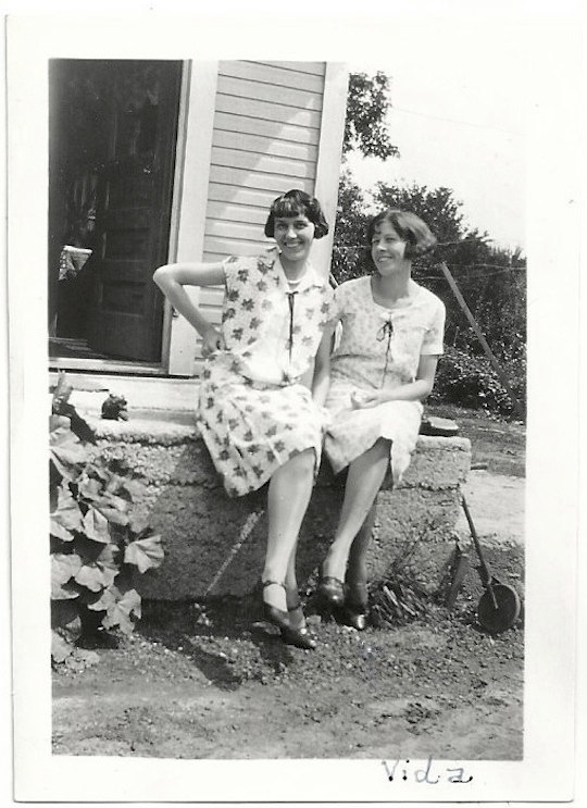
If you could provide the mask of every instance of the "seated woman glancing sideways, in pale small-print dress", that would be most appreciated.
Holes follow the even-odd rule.
[[[332,358],[324,449],[335,473],[348,468],[333,545],[319,596],[366,624],[366,549],[360,533],[390,468],[394,485],[410,463],[442,353],[445,306],[411,277],[412,260],[436,239],[413,213],[386,210],[367,231],[375,272],[341,284],[335,319],[342,325]]]

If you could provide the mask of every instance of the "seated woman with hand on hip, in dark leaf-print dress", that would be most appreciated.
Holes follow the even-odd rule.
[[[315,198],[290,190],[273,202],[264,232],[276,241],[266,254],[168,264],[154,281],[202,336],[208,359],[198,424],[226,493],[241,496],[268,483],[265,618],[286,643],[312,648],[298,596],[296,546],[321,459],[329,352],[323,332],[332,289],[310,251],[328,225]],[[214,284],[225,286],[220,330],[184,288]],[[314,358],[310,390],[303,377]]]

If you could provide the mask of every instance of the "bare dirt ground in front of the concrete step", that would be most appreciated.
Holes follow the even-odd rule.
[[[491,570],[523,595],[523,430],[471,421],[474,461],[476,452],[488,462],[472,472],[467,499]],[[54,670],[53,753],[520,759],[523,614],[495,637],[482,630],[472,562],[452,611],[420,596],[411,622],[357,632],[322,620],[310,597],[314,651],[284,646],[255,623],[250,599],[145,604],[117,648],[79,648]],[[417,594],[417,581],[405,585]]]

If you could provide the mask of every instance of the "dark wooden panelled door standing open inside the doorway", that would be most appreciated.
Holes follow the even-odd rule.
[[[108,160],[98,169],[88,344],[100,353],[161,359],[182,62],[102,64],[109,87]]]

